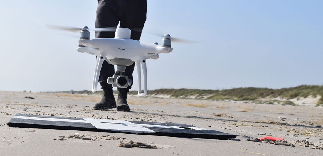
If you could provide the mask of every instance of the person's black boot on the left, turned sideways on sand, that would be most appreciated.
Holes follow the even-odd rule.
[[[101,84],[101,83],[100,83]],[[96,103],[94,105],[95,110],[107,110],[116,108],[116,100],[113,96],[113,90],[112,88],[107,88],[106,86],[102,86],[101,89],[103,89],[103,96],[100,102]]]

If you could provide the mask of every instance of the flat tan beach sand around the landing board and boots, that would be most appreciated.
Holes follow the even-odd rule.
[[[131,112],[93,110],[93,105],[100,98],[100,95],[0,91],[0,155],[323,155],[323,150],[319,149],[323,149],[322,107],[129,96]],[[235,134],[237,139],[7,126],[6,123],[16,113],[183,123]],[[82,134],[92,140],[67,138]],[[284,136],[285,141],[294,143],[295,147],[247,141],[248,138],[265,136],[258,134]],[[93,140],[107,135],[116,139]],[[59,139],[59,136],[65,136],[65,140],[55,141],[54,138]],[[117,146],[120,141],[129,140],[154,144],[157,149]]]

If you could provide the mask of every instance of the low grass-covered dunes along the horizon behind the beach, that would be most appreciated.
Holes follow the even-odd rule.
[[[143,92],[143,91],[142,91]],[[62,93],[62,92],[60,92]],[[63,92],[65,93],[65,92]],[[66,92],[68,93],[68,92]],[[78,94],[92,94],[91,91],[76,91]],[[114,91],[118,94],[118,91]],[[102,91],[96,92],[96,94],[102,94]],[[136,95],[137,91],[130,91],[130,95]],[[256,88],[256,87],[245,87],[245,88],[232,88],[223,90],[201,90],[201,89],[156,89],[147,91],[147,95],[168,95],[175,98],[194,98],[194,99],[205,99],[205,100],[252,100],[265,97],[282,97],[286,98],[287,101],[281,101],[283,105],[295,105],[293,102],[288,101],[289,99],[303,97],[306,98],[310,95],[316,97],[321,96],[317,106],[323,105],[323,85],[300,85],[297,87],[272,89],[272,88]],[[275,101],[269,101],[267,104],[273,104]]]

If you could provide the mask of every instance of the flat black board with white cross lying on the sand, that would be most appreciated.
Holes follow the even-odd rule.
[[[69,118],[28,114],[16,114],[10,119],[8,125],[11,127],[116,132],[206,139],[236,138],[236,135],[233,134],[186,124]]]

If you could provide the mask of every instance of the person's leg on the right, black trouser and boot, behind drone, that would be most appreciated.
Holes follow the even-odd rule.
[[[120,19],[120,27],[122,28],[143,28],[146,21],[147,13],[147,1],[146,0],[126,0],[127,3],[122,5],[122,17]],[[133,40],[140,40],[141,32],[131,31],[130,38]],[[129,79],[133,82],[133,69],[135,63],[126,67],[124,75],[128,76]],[[132,84],[131,84],[132,85]],[[128,88],[118,88],[118,100],[117,100],[117,111],[130,111],[130,108],[127,104],[127,93],[129,92]]]

